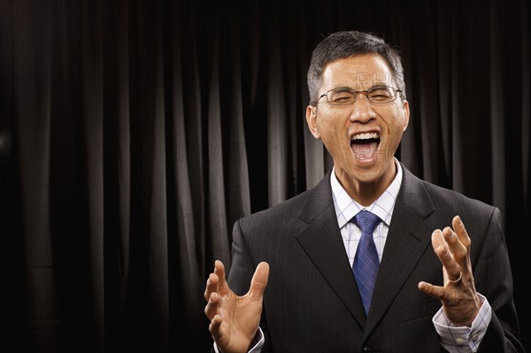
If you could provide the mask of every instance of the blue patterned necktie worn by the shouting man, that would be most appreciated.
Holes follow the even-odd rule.
[[[373,241],[373,232],[381,222],[381,219],[372,212],[360,211],[350,221],[361,228],[361,239],[354,257],[354,264],[352,264],[352,272],[354,272],[359,294],[361,295],[366,314],[368,314],[371,299],[373,298],[376,274],[380,266],[378,252]]]

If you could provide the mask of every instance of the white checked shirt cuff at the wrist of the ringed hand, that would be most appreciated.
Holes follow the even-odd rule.
[[[441,345],[450,353],[477,352],[490,319],[492,318],[492,308],[487,298],[478,293],[481,300],[481,308],[476,318],[473,319],[472,326],[456,326],[450,322],[444,314],[443,308],[439,309],[432,319],[435,330],[439,334]]]

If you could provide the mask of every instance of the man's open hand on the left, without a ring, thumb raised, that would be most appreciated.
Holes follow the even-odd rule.
[[[223,353],[247,352],[262,315],[262,298],[269,278],[269,265],[258,264],[246,295],[238,296],[228,288],[225,266],[215,261],[214,272],[206,280],[204,314],[211,324],[212,338]]]

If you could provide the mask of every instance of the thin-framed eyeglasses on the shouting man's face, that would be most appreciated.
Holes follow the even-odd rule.
[[[357,91],[352,88],[334,88],[327,91],[327,93],[319,96],[315,104],[319,102],[323,96],[327,97],[327,102],[332,105],[348,105],[356,102],[358,93],[365,93],[369,102],[374,104],[384,104],[393,102],[396,99],[396,93],[402,92],[402,89],[390,86],[374,86],[366,91]]]

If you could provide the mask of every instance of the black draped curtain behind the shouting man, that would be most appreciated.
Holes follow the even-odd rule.
[[[357,29],[403,54],[397,157],[502,210],[529,349],[530,15],[527,0],[1,1],[0,345],[208,351],[204,283],[230,264],[235,219],[331,166],[305,75],[323,36]]]

